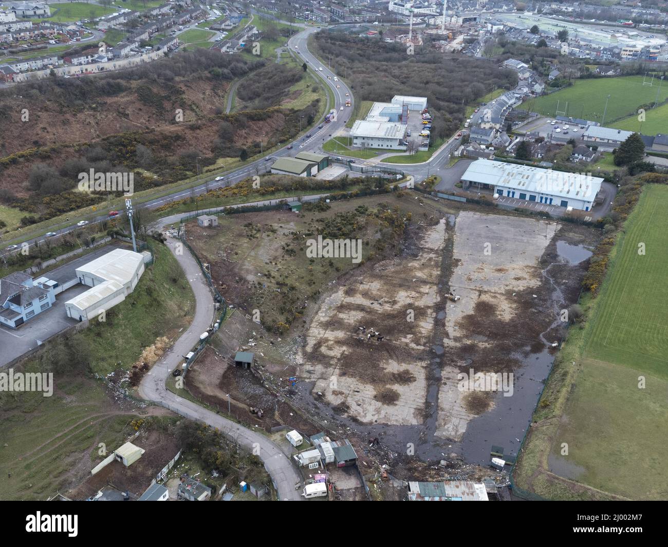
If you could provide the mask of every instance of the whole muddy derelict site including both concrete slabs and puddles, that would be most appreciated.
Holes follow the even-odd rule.
[[[515,454],[558,351],[551,345],[565,331],[560,312],[576,301],[600,234],[485,208],[447,214],[428,200],[419,205],[398,256],[323,287],[282,339],[245,317],[217,358],[207,353],[191,369],[192,393],[224,411],[230,393],[232,413],[258,427],[348,437],[369,465],[398,464],[397,476],[414,456],[444,476],[489,474],[493,444]],[[448,300],[448,291],[460,299]],[[367,337],[372,328],[381,341]],[[256,352],[261,377],[224,358],[240,349]],[[458,375],[471,369],[512,373],[512,396],[461,389]],[[251,415],[255,406],[263,419]]]

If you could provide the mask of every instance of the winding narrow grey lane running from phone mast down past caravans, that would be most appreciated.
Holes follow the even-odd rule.
[[[160,226],[175,222],[179,217],[180,215],[175,215],[164,218],[160,222]],[[139,387],[139,393],[144,399],[164,405],[189,419],[204,421],[208,425],[218,428],[226,437],[236,441],[244,449],[257,453],[277,486],[279,498],[281,500],[303,500],[300,492],[295,490],[295,484],[301,481],[301,477],[278,445],[262,433],[246,429],[246,427],[234,421],[175,395],[165,387],[168,375],[182,364],[183,356],[198,343],[200,334],[206,331],[214,320],[214,301],[206,279],[202,275],[197,262],[187,250],[184,250],[182,254],[175,252],[177,243],[178,240],[168,238],[168,247],[181,264],[195,295],[195,316],[188,330],[179,337],[172,348],[144,377]]]

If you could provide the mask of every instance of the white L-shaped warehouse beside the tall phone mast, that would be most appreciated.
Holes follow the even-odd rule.
[[[76,273],[79,283],[91,288],[65,302],[65,313],[79,321],[94,319],[134,291],[144,273],[144,255],[115,249],[77,268]]]

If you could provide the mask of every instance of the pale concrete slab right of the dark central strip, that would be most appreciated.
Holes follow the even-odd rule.
[[[450,290],[461,299],[448,303],[443,347],[449,355],[474,344],[490,345],[484,337],[464,334],[462,321],[484,309],[512,321],[521,313],[513,291],[538,287],[542,275],[538,260],[559,228],[556,222],[463,211],[456,220]],[[494,312],[492,312],[492,310]],[[460,441],[468,422],[476,417],[469,410],[470,393],[458,389],[458,374],[466,365],[486,372],[494,363],[446,365],[439,390],[436,435]],[[489,408],[488,408],[489,409]]]

